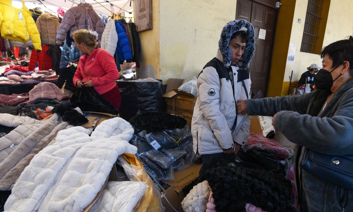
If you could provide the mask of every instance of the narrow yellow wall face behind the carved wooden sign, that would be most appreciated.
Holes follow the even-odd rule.
[[[134,4],[135,5],[135,4]],[[134,8],[136,9],[136,7]],[[136,20],[136,13],[134,13]],[[159,22],[159,0],[152,0],[152,30],[140,32],[141,53],[140,53],[140,69],[151,64],[160,77],[160,22]]]

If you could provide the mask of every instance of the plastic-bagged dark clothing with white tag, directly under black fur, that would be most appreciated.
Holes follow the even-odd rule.
[[[145,130],[139,133],[145,136],[147,142],[155,149],[178,148],[190,139],[192,139],[189,126],[177,128],[174,130],[160,130],[151,133],[146,133]]]

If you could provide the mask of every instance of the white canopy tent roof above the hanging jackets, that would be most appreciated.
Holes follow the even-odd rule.
[[[133,0],[25,0],[25,2],[34,3],[38,5],[38,7],[41,7],[41,5],[61,7],[64,11],[80,3],[88,3],[93,6],[93,9],[97,13],[107,16],[113,13],[119,14],[125,12],[125,14],[131,14],[133,12]],[[56,12],[56,10],[54,12]]]

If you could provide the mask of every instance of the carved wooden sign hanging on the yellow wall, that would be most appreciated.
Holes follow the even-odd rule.
[[[152,0],[136,0],[135,24],[138,32],[152,29]]]

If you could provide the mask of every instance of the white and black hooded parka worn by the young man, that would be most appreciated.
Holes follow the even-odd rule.
[[[246,31],[250,40],[246,43],[243,59],[236,67],[231,66],[229,40],[240,30]],[[217,56],[199,74],[191,124],[195,153],[221,153],[233,148],[234,142],[244,145],[249,137],[251,117],[237,114],[236,103],[239,99],[250,98],[248,66],[255,50],[253,37],[254,28],[246,20],[229,22],[222,30]]]

